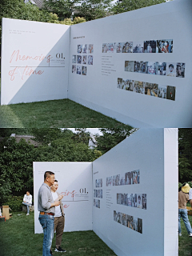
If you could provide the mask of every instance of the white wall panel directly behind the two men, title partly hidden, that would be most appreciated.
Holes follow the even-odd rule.
[[[46,170],[54,172],[66,216],[64,231],[92,230],[92,163],[34,162],[34,233],[42,233],[38,221],[38,190]]]

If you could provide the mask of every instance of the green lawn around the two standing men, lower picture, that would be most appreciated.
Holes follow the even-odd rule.
[[[21,215],[18,215],[21,214]],[[34,234],[34,213],[14,213],[6,222],[0,222],[1,256],[41,256],[43,234]],[[52,250],[55,246],[55,234]],[[66,232],[62,236],[62,248],[70,256],[113,256],[113,250],[94,231]],[[53,255],[58,255],[53,251]],[[64,254],[62,254],[64,255]]]

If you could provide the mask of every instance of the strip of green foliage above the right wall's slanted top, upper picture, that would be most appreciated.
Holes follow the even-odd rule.
[[[146,6],[154,6],[166,0],[118,0],[114,6],[110,8],[113,14],[121,14],[126,11],[144,8]]]

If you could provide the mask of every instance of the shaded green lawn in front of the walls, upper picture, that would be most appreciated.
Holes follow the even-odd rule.
[[[126,127],[69,99],[0,106],[0,128]]]

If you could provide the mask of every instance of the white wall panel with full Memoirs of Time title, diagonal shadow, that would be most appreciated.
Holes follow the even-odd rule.
[[[67,98],[70,26],[2,18],[1,105]]]

